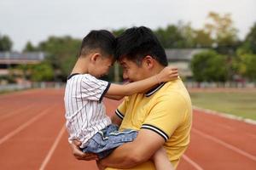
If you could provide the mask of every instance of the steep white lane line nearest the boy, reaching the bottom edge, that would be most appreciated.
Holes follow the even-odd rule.
[[[54,151],[55,151],[57,145],[59,144],[59,142],[60,142],[60,140],[61,140],[61,137],[62,137],[62,135],[63,135],[64,132],[65,132],[65,129],[66,129],[66,127],[65,127],[65,124],[64,124],[63,127],[61,128],[60,133],[58,134],[57,138],[55,139],[54,144],[52,144],[52,146],[51,146],[51,148],[50,148],[50,150],[49,150],[47,156],[44,158],[44,161],[43,161],[43,163],[41,164],[39,170],[44,170],[44,168],[46,167],[46,165],[47,165],[47,163],[49,162],[51,156],[53,155],[53,153],[54,153]]]

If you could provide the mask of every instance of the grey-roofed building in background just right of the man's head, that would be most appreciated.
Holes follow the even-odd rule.
[[[168,64],[177,67],[181,77],[191,78],[193,76],[189,67],[191,59],[195,54],[206,50],[206,48],[166,49]]]

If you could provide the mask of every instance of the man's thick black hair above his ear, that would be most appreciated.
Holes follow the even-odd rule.
[[[117,37],[116,57],[118,59],[125,57],[141,65],[146,55],[152,56],[160,65],[168,65],[165,49],[149,28],[132,27]]]

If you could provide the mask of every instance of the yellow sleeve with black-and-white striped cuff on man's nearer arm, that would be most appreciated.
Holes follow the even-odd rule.
[[[183,122],[187,108],[182,96],[162,96],[152,107],[141,128],[152,130],[167,140]]]

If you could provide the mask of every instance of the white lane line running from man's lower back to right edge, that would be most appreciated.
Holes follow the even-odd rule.
[[[192,131],[195,131],[195,133],[200,134],[204,138],[211,139],[212,141],[214,141],[214,142],[216,142],[218,144],[221,144],[224,147],[226,147],[226,148],[228,148],[230,150],[233,150],[233,151],[235,151],[238,154],[241,154],[242,156],[246,156],[247,158],[249,158],[249,159],[251,159],[253,161],[256,161],[256,156],[253,156],[253,155],[247,153],[246,151],[240,150],[239,148],[236,148],[236,146],[233,146],[231,144],[225,143],[223,140],[217,139],[217,138],[215,138],[215,137],[213,137],[211,135],[208,135],[206,133],[202,133],[200,130],[197,130],[195,128],[193,128]]]

